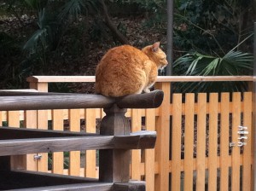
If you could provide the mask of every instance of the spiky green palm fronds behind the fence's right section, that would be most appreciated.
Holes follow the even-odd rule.
[[[253,72],[253,55],[230,50],[223,57],[191,53],[183,55],[174,62],[175,72],[191,76],[239,76]],[[183,83],[177,85],[176,91],[244,91],[244,82],[227,83]]]

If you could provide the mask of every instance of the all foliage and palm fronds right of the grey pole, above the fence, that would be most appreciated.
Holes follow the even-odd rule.
[[[174,62],[176,75],[248,75],[253,72],[253,1],[204,0],[175,2],[174,44],[185,54]],[[230,50],[231,49],[231,50]],[[177,91],[246,90],[245,83],[183,83]]]

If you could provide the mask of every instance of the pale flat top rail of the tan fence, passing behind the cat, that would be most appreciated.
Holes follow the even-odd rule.
[[[79,83],[95,82],[95,76],[31,76],[29,83]],[[253,76],[159,76],[157,82],[214,82],[253,81]]]

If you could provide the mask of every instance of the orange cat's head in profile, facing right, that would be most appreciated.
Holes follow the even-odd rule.
[[[154,61],[159,69],[167,66],[166,53],[160,49],[160,42],[143,48],[143,52],[148,55],[150,60]]]

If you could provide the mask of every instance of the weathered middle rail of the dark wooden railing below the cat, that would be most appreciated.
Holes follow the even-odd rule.
[[[0,134],[7,131],[13,132],[13,128],[0,128]],[[37,138],[26,138],[24,135],[33,135]],[[21,136],[19,137],[19,135]],[[38,136],[37,136],[38,134]],[[48,134],[48,137],[45,135]],[[51,136],[51,134],[53,136]],[[40,135],[42,135],[40,137]],[[59,135],[59,136],[57,136]],[[39,152],[55,152],[55,151],[73,151],[73,150],[90,150],[90,149],[141,149],[154,148],[156,139],[155,131],[139,131],[131,133],[127,136],[99,136],[99,135],[84,135],[70,136],[68,132],[58,133],[55,130],[48,132],[42,130],[17,130],[15,139],[0,140],[0,156],[11,154],[24,153],[39,153]],[[84,135],[84,136],[83,136]]]

